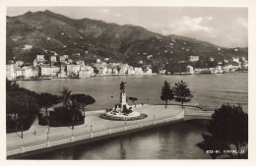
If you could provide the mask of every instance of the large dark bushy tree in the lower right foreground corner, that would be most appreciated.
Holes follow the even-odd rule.
[[[199,147],[204,149],[202,144],[211,146],[213,142],[220,142],[222,148],[234,145],[240,158],[240,147],[248,143],[248,114],[242,111],[242,107],[224,104],[212,115],[212,120],[207,124],[207,131],[211,136],[204,137],[204,141],[199,142]],[[209,139],[212,140],[209,140]],[[200,145],[201,144],[201,145]]]

